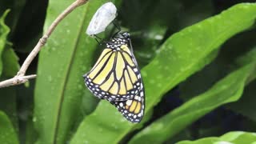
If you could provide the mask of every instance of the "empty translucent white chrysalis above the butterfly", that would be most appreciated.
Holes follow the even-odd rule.
[[[114,3],[106,2],[104,5],[98,8],[94,14],[94,17],[90,20],[86,34],[94,36],[95,34],[105,31],[106,27],[110,25],[116,16],[117,8],[114,6]]]

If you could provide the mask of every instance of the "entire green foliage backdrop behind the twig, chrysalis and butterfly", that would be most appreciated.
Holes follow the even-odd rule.
[[[42,30],[72,2],[0,0],[0,80],[17,73]],[[58,25],[27,72],[38,74],[35,82],[0,89],[0,143],[256,141],[249,132],[256,131],[254,1],[113,1],[145,83],[138,124],[84,86],[82,74],[104,48],[86,26],[105,2],[90,0]],[[113,32],[110,26],[101,36]]]

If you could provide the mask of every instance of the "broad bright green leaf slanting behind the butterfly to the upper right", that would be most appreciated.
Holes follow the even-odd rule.
[[[143,122],[149,118],[163,94],[206,66],[209,55],[234,34],[253,26],[255,18],[256,4],[239,4],[167,39],[156,58],[142,69],[146,88],[146,117]],[[114,106],[102,101],[78,127],[71,144],[118,143],[142,123],[126,122]]]

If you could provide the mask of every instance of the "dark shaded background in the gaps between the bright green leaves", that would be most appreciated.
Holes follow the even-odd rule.
[[[123,0],[118,9],[118,23],[122,29],[130,30],[133,45],[136,47],[135,56],[139,65],[145,66],[162,44],[171,34],[182,30],[214,14],[219,14],[230,6],[240,2],[255,2],[242,0]],[[44,20],[46,18],[46,0],[0,0],[0,14],[10,9],[6,19],[11,32],[8,38],[13,43],[13,48],[18,54],[20,64],[25,60],[30,50],[42,36]],[[63,8],[64,10],[65,8]],[[158,34],[161,38],[155,38]],[[160,104],[154,108],[154,116],[150,122],[158,119],[170,110],[182,105],[188,99],[206,91],[210,86],[228,74],[234,66],[230,62],[246,51],[256,46],[256,31],[247,30],[242,34],[230,38],[220,50],[218,58],[200,72],[188,78],[170,90]],[[35,74],[38,58],[29,68],[29,74]],[[178,134],[176,139],[166,143],[177,142],[182,139],[198,139],[207,136],[219,136],[232,130],[256,131],[256,82],[250,83],[239,102],[230,103],[219,107],[217,110],[206,114],[205,117],[194,122],[193,125]],[[26,134],[26,124],[32,122],[34,81],[30,86],[16,86],[18,94],[17,109],[20,139],[23,142]],[[1,93],[1,92],[0,92]],[[1,110],[6,110],[2,107]],[[146,125],[149,125],[147,122]],[[124,140],[125,142],[125,140]]]

